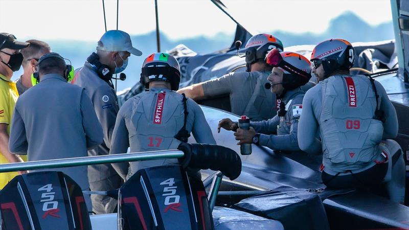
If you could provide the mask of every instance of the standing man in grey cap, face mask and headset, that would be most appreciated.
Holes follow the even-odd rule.
[[[92,53],[87,58],[71,82],[85,88],[104,132],[104,142],[98,148],[88,151],[89,156],[109,153],[112,131],[119,110],[111,78],[113,74],[125,70],[131,54],[141,56],[142,52],[132,47],[127,33],[120,30],[107,31],[98,41],[97,53]],[[92,191],[115,190],[123,183],[110,164],[88,166],[88,179]],[[117,200],[108,196],[92,195],[91,198],[96,214],[112,213],[117,206]]]

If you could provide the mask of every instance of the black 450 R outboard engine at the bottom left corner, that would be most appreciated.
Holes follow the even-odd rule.
[[[0,210],[2,229],[92,229],[81,188],[62,172],[14,177],[0,191]]]

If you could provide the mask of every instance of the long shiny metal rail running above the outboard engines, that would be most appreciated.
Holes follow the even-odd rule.
[[[136,162],[138,160],[154,160],[163,158],[181,158],[185,153],[180,150],[161,150],[139,153],[122,153],[104,156],[84,156],[63,159],[37,160],[33,162],[11,163],[0,165],[0,173],[34,169],[66,168],[85,165],[111,164],[120,162]]]

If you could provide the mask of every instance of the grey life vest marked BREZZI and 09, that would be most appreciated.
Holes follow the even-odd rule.
[[[324,166],[336,172],[373,164],[380,154],[383,126],[375,119],[373,82],[365,76],[331,76],[319,83],[319,116]]]

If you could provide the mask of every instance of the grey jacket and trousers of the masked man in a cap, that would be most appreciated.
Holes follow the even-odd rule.
[[[75,78],[71,83],[85,88],[104,133],[103,143],[98,148],[89,150],[88,155],[107,155],[119,110],[115,90],[98,76],[93,65],[88,62],[76,70]],[[88,166],[88,180],[92,191],[115,190],[123,183],[110,164]],[[91,198],[93,211],[96,214],[112,213],[117,206],[117,200],[108,196],[92,195]]]

